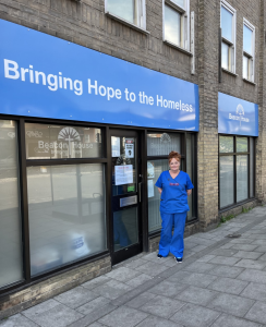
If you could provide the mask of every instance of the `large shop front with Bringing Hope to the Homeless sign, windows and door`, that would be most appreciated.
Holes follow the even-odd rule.
[[[182,155],[195,185],[198,87],[0,21],[0,292],[160,231],[155,182]]]

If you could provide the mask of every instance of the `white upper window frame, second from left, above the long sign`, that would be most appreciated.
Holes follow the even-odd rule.
[[[180,7],[174,0],[162,0],[162,40],[176,48],[190,51],[190,0],[184,0],[185,5]],[[165,7],[169,5],[181,14],[181,41],[180,45],[172,44],[165,36]]]

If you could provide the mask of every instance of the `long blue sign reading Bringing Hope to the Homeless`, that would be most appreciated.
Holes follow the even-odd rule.
[[[198,131],[198,86],[0,20],[0,113]]]

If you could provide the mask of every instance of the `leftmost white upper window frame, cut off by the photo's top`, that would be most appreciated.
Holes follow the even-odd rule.
[[[123,17],[116,15],[116,13],[110,12],[108,9],[108,0],[105,0],[105,14],[137,31],[149,34],[149,32],[146,31],[146,0],[135,0],[135,1],[137,4],[137,24],[129,22]]]

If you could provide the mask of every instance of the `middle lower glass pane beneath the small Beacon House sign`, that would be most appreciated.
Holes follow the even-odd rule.
[[[237,202],[247,197],[247,156],[237,156]]]

